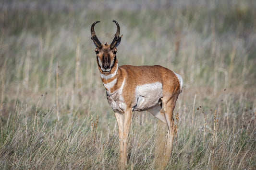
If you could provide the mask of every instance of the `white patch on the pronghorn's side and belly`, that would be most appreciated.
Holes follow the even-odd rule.
[[[163,97],[162,87],[160,82],[136,86],[133,111],[145,111],[156,106]]]

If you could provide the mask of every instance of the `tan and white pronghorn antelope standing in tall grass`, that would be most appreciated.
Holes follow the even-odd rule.
[[[119,129],[120,162],[126,164],[126,144],[134,111],[148,111],[168,126],[167,154],[171,158],[174,138],[172,118],[176,100],[182,91],[183,79],[179,74],[161,66],[118,66],[117,46],[121,42],[120,26],[111,44],[101,44],[94,26],[91,39],[96,49],[98,69],[108,102],[113,109]]]

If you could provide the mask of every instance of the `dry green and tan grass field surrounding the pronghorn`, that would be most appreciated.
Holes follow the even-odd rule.
[[[119,65],[183,77],[173,154],[167,127],[134,113],[127,169],[256,169],[254,0],[2,0],[0,169],[117,169],[118,128],[97,67],[123,34]]]

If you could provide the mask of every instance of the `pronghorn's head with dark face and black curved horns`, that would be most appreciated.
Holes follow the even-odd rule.
[[[116,47],[120,44],[121,38],[120,34],[120,26],[116,21],[113,21],[116,23],[117,26],[117,31],[115,34],[115,37],[112,41],[111,44],[101,44],[100,41],[98,40],[95,31],[94,31],[94,26],[96,23],[99,23],[99,21],[95,22],[91,26],[91,39],[94,42],[94,45],[96,46],[95,52],[97,56],[97,63],[98,63],[98,68],[100,72],[103,74],[108,74],[110,73],[111,69],[116,65],[117,60],[116,60],[116,53],[117,49]]]

